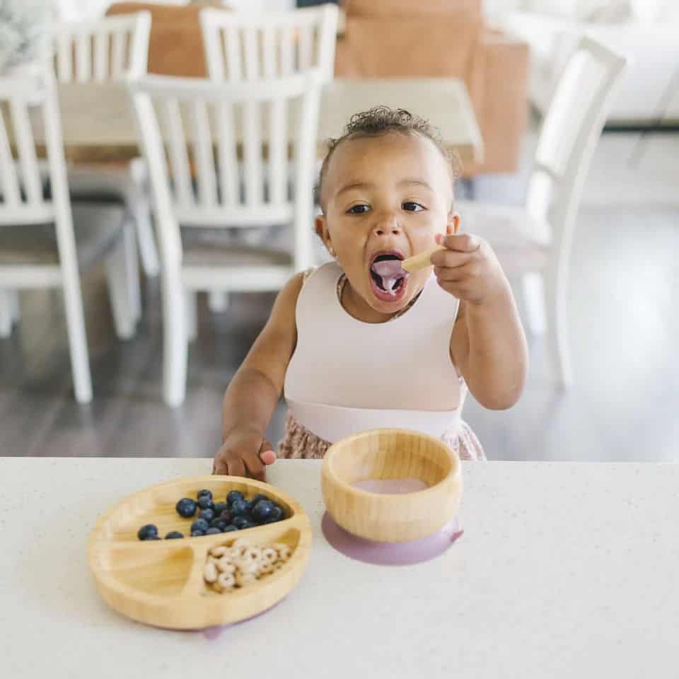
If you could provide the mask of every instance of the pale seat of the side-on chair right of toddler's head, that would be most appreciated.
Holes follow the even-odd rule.
[[[507,274],[541,271],[547,265],[552,228],[523,207],[458,201],[462,231],[488,241]]]

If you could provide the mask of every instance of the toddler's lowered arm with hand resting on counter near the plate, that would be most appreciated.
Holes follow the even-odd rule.
[[[214,473],[263,479],[262,457],[271,451],[264,439],[283,391],[285,373],[295,350],[295,309],[302,287],[297,274],[279,294],[269,321],[228,385],[222,410],[222,446]],[[262,455],[260,456],[260,453]],[[271,463],[274,456],[269,453]]]

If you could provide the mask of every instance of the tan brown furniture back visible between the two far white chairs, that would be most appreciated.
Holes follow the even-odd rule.
[[[226,9],[220,2],[163,5],[147,2],[114,3],[107,15],[151,13],[149,73],[186,78],[204,78],[207,65],[200,30],[200,12],[209,6]]]

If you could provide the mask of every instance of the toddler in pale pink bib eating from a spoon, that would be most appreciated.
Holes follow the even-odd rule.
[[[224,396],[214,472],[262,479],[282,393],[282,458],[322,458],[356,431],[397,427],[484,459],[460,418],[469,389],[511,407],[526,338],[492,249],[458,233],[456,166],[429,124],[404,110],[354,115],[330,141],[315,229],[334,261],[294,276]],[[431,267],[400,261],[442,245]]]

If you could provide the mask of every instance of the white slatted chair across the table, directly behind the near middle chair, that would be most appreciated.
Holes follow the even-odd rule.
[[[323,82],[331,81],[338,13],[334,4],[283,12],[205,8],[200,22],[210,79],[236,83],[318,69]],[[248,234],[250,242],[257,236]],[[308,238],[313,243],[311,230]],[[210,291],[208,299],[212,311],[226,308],[223,292]]]

